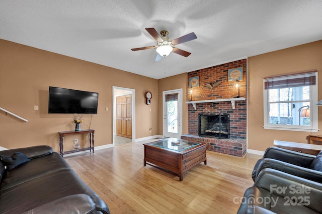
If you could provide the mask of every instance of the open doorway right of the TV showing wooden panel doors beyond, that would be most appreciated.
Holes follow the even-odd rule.
[[[135,89],[113,86],[113,146],[134,142]]]

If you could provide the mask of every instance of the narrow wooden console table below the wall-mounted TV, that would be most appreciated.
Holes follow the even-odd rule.
[[[73,153],[73,152],[78,152],[78,151],[85,151],[85,150],[89,150],[90,152],[93,149],[93,153],[94,153],[94,129],[85,129],[85,130],[81,130],[81,131],[60,131],[59,133],[59,150],[60,150],[60,155],[63,156],[64,154],[69,154],[69,153]],[[86,147],[86,148],[79,148],[79,149],[75,149],[75,150],[70,150],[70,151],[63,151],[64,148],[64,136],[65,135],[73,135],[73,134],[87,134],[89,133],[90,135],[90,147]]]

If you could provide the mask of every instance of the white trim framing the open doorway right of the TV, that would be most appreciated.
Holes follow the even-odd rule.
[[[130,91],[132,95],[132,142],[135,141],[135,89],[131,88],[123,88],[118,86],[112,86],[112,106],[113,106],[113,146],[115,146],[115,139],[114,136],[116,135],[116,90],[124,90],[124,91]],[[124,94],[125,95],[125,94]],[[127,93],[128,95],[128,93]],[[122,96],[122,94],[119,94],[118,96]]]

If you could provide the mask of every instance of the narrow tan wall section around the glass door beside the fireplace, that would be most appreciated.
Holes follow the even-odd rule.
[[[182,88],[182,134],[188,134],[187,73],[158,80],[158,118],[163,118],[162,92]],[[163,134],[163,120],[158,121],[158,133]]]

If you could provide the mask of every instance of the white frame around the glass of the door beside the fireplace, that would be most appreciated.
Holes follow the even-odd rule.
[[[178,134],[182,135],[182,115],[183,115],[183,106],[182,106],[182,88],[179,89],[173,89],[169,91],[163,91],[162,92],[162,129],[163,129],[163,136],[165,137],[165,133],[167,132],[165,130],[166,125],[166,119],[164,117],[166,116],[166,95],[167,94],[174,94],[178,92]]]

